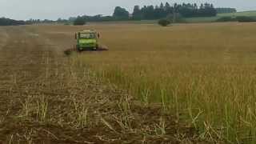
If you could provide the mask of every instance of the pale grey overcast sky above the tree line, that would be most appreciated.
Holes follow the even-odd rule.
[[[0,0],[0,17],[14,19],[57,19],[78,15],[112,14],[114,6],[130,12],[134,5],[157,5],[160,2],[211,2],[215,7],[256,10],[256,0]]]

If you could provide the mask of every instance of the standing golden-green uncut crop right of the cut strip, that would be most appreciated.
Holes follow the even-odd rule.
[[[75,30],[102,34],[107,52],[74,54],[98,78],[160,102],[203,137],[256,142],[256,24],[46,26],[67,41]],[[63,32],[66,34],[58,34]],[[70,42],[69,42],[70,43]]]

